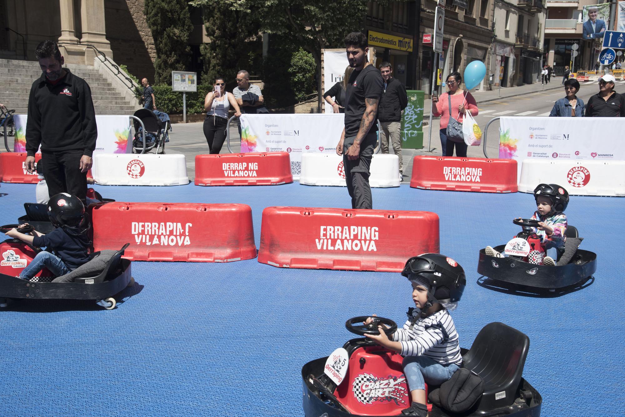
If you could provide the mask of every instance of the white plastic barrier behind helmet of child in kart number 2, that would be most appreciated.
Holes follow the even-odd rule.
[[[623,197],[625,161],[523,160],[519,191],[534,192],[541,183],[562,185],[571,195]]]

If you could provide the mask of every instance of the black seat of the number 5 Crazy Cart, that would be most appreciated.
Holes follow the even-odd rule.
[[[504,323],[489,323],[479,331],[471,349],[462,356],[464,368],[484,380],[479,410],[512,405],[517,397],[529,337]]]

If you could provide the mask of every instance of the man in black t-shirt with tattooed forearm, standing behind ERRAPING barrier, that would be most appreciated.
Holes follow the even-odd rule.
[[[384,82],[367,62],[367,37],[352,32],[345,37],[349,66],[354,69],[345,91],[345,127],[336,153],[343,155],[345,182],[352,209],[372,209],[369,166],[377,140],[377,102]]]

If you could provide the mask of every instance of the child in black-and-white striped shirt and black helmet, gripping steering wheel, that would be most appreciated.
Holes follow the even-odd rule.
[[[456,308],[466,278],[456,261],[439,253],[410,258],[401,275],[412,284],[416,308],[408,310],[404,328],[393,333],[391,339],[382,330],[379,335],[365,336],[404,356],[411,405],[402,410],[402,415],[427,417],[425,383],[441,385],[462,364],[458,333],[449,310]],[[365,321],[369,323],[371,317]]]

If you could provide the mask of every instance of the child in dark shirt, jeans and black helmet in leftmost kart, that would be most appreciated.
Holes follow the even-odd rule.
[[[12,228],[5,234],[36,247],[46,247],[51,252],[41,251],[18,275],[17,278],[30,280],[46,267],[56,277],[65,275],[89,261],[91,242],[87,235],[89,221],[84,215],[84,205],[78,197],[66,193],[54,195],[47,204],[48,215],[56,227],[44,235],[32,232],[25,235]],[[26,223],[27,224],[27,223]]]

